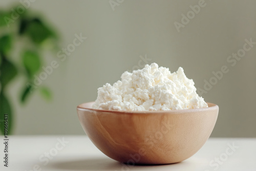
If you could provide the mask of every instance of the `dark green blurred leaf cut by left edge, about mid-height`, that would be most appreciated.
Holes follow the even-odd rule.
[[[17,75],[17,69],[6,58],[2,58],[2,64],[0,66],[0,82],[2,89],[6,87],[6,85]]]

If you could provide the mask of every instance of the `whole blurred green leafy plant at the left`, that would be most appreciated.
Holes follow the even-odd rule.
[[[34,16],[30,11],[18,11],[17,7],[9,10],[0,9],[0,129],[4,134],[4,115],[8,114],[8,134],[12,131],[12,105],[7,93],[8,84],[17,76],[24,75],[21,87],[20,103],[25,103],[34,91],[39,91],[46,100],[52,98],[49,88],[40,86],[33,89],[33,77],[42,69],[44,62],[41,55],[44,50],[56,52],[58,36],[49,24],[41,17]],[[22,45],[18,50],[16,44]],[[45,49],[45,44],[50,49]],[[12,56],[18,52],[18,56]],[[16,53],[13,53],[13,52]],[[17,59],[17,61],[14,61]]]

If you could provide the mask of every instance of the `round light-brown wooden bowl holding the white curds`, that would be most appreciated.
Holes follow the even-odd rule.
[[[169,164],[193,156],[214,129],[219,107],[176,111],[107,111],[77,106],[84,132],[102,153],[127,164]]]

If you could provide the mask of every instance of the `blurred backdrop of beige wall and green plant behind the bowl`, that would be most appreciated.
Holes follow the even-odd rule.
[[[219,105],[211,137],[256,137],[256,1],[1,0],[0,55],[14,135],[84,134],[76,106],[156,62]]]

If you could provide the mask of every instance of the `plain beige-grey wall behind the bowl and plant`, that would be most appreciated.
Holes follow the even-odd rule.
[[[22,0],[25,1],[25,0]],[[28,0],[27,0],[28,1]],[[19,1],[1,0],[1,8]],[[256,1],[209,1],[189,23],[177,31],[174,23],[200,1],[121,0],[113,10],[109,1],[35,1],[39,11],[62,35],[61,47],[75,34],[87,39],[43,82],[53,91],[46,102],[33,95],[28,104],[17,101],[20,79],[9,93],[15,109],[16,135],[84,134],[76,106],[93,101],[97,88],[113,84],[126,70],[138,66],[140,56],[149,63],[184,68],[196,87],[203,89],[212,72],[227,66],[229,72],[202,96],[220,107],[212,137],[256,137],[256,45],[236,66],[227,58],[243,48],[245,39],[256,41]],[[45,66],[50,65],[50,58]]]

